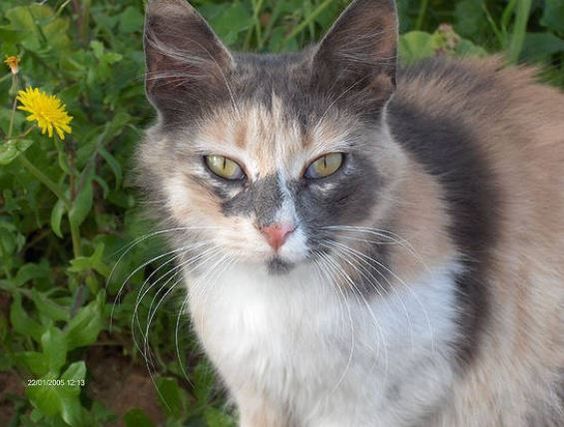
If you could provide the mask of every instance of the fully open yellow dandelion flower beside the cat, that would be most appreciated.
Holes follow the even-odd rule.
[[[53,137],[53,130],[57,132],[61,140],[65,139],[65,133],[71,133],[69,123],[72,117],[66,112],[65,104],[54,95],[28,87],[26,90],[18,91],[16,99],[22,104],[18,110],[31,113],[27,116],[30,122],[36,121],[41,133]]]

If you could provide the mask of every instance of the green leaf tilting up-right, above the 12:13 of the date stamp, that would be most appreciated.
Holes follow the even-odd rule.
[[[70,320],[65,330],[69,351],[96,342],[98,334],[105,325],[104,299],[104,292],[100,292],[96,300],[81,308],[78,314]]]

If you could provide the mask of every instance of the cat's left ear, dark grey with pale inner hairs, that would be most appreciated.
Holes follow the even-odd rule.
[[[145,87],[167,118],[220,96],[233,57],[185,0],[150,0],[145,18]]]

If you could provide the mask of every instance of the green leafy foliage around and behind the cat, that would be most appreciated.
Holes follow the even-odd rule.
[[[345,3],[193,2],[230,47],[260,52],[318,39]],[[501,52],[564,86],[564,0],[398,7],[404,63]],[[178,320],[172,256],[147,234],[130,182],[134,146],[155,117],[143,91],[143,10],[138,0],[0,3],[0,55],[22,61],[17,81],[0,67],[0,425],[234,425]],[[29,128],[12,113],[26,86],[65,102],[74,120],[64,142],[14,136]]]

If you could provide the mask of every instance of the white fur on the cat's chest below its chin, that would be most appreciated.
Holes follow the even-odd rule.
[[[368,299],[308,266],[282,276],[235,266],[187,283],[196,331],[236,399],[266,393],[299,426],[408,426],[452,381],[457,270]]]

